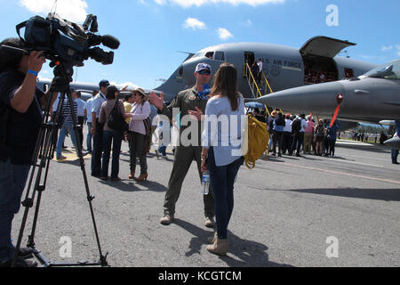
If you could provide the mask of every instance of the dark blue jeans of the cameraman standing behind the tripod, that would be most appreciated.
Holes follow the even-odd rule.
[[[0,261],[14,256],[11,241],[12,219],[20,211],[20,199],[28,180],[29,165],[0,161]]]

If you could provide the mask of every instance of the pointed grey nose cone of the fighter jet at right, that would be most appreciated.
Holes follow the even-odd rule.
[[[279,91],[260,97],[257,102],[295,113],[308,111],[332,113],[338,104],[336,101],[338,94],[343,94],[343,92],[344,89],[340,83],[332,82]]]

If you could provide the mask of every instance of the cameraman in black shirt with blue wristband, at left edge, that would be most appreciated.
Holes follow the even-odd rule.
[[[24,48],[19,38],[7,38],[0,45]],[[36,87],[44,62],[41,52],[0,51],[0,267],[11,266],[14,256],[12,219],[20,211],[46,102]],[[17,266],[36,267],[35,261],[25,259],[29,256],[32,249],[20,248]]]

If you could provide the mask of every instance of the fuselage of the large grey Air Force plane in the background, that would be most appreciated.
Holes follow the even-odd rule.
[[[205,55],[212,55],[209,58]],[[194,85],[194,70],[197,63],[206,62],[212,66],[215,74],[224,61],[233,63],[238,70],[238,88],[244,97],[252,97],[248,80],[244,77],[244,65],[261,59],[263,72],[274,92],[288,88],[311,84],[309,70],[319,70],[335,81],[345,77],[357,77],[376,65],[363,61],[354,61],[343,57],[324,57],[314,54],[302,54],[299,49],[283,45],[260,43],[237,43],[214,45],[204,48],[182,64],[181,76],[188,85]],[[309,79],[309,80],[308,80]]]

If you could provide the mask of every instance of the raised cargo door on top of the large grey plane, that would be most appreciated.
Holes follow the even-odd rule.
[[[334,58],[343,49],[352,45],[356,44],[332,37],[312,37],[300,48],[300,53]]]

